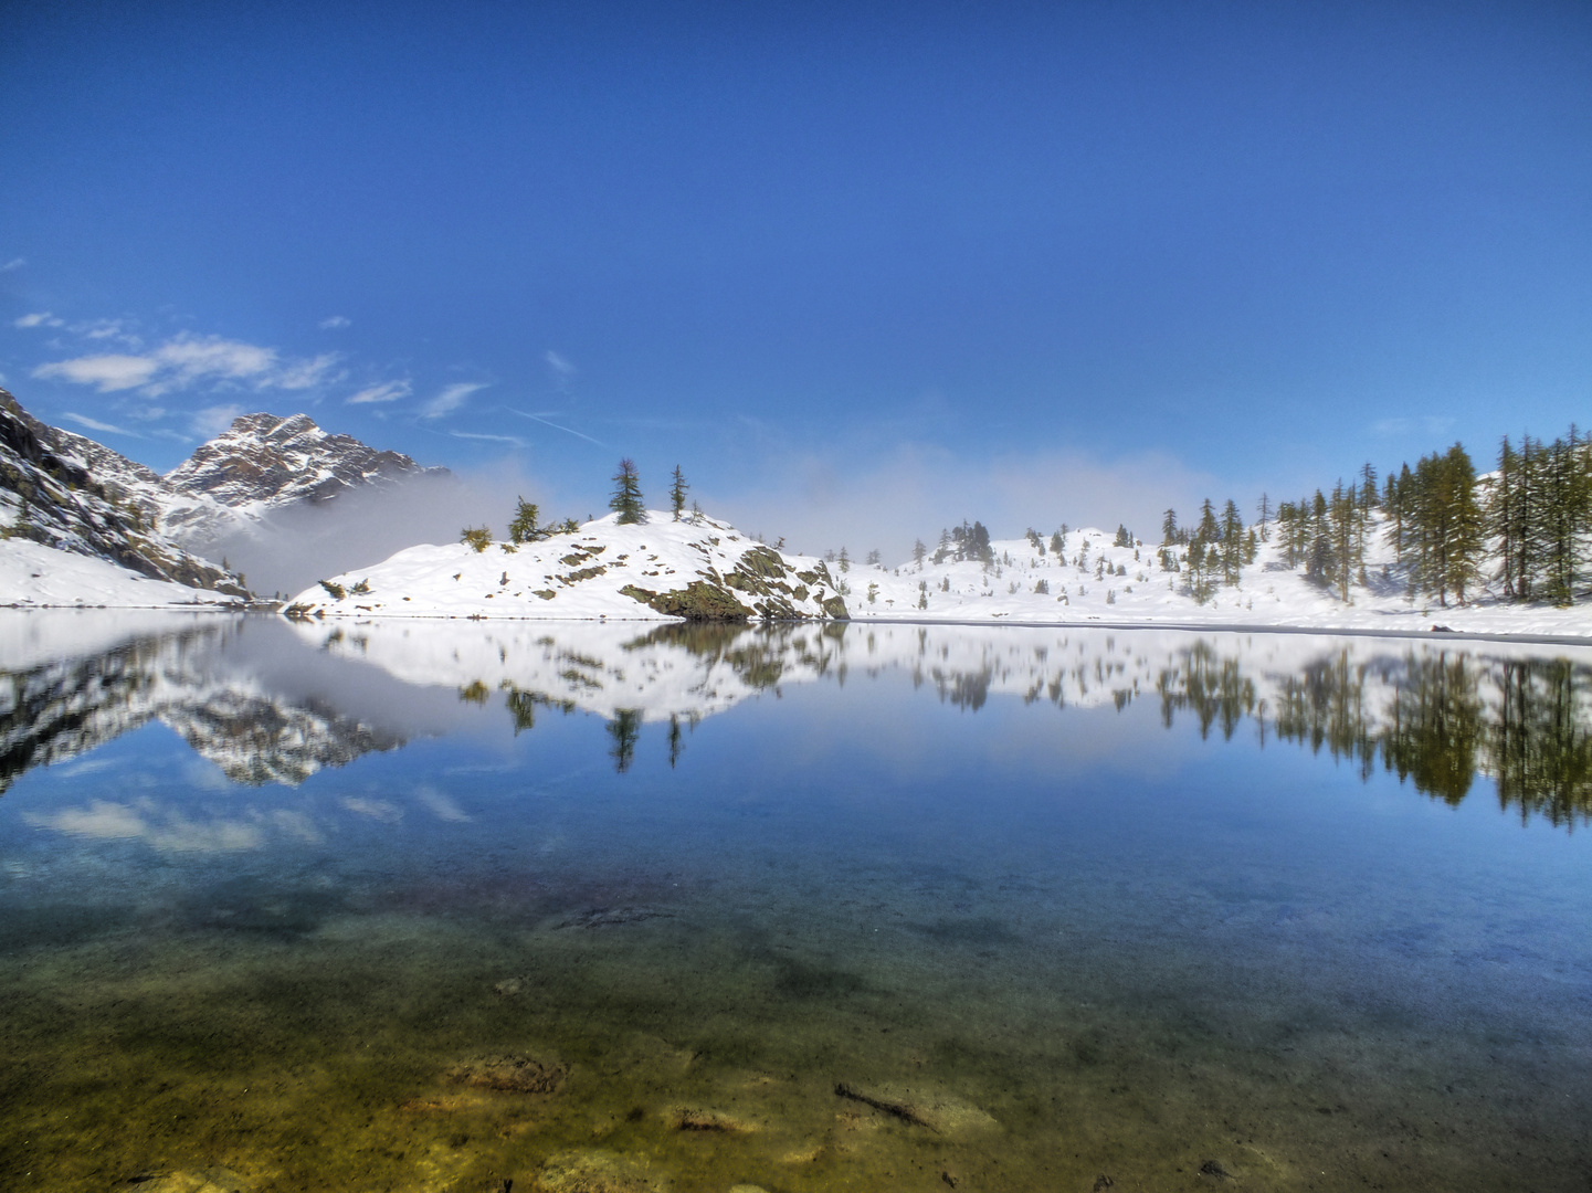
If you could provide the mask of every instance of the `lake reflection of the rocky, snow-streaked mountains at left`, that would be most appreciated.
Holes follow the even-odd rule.
[[[322,766],[403,744],[317,701],[290,701],[247,674],[229,674],[224,655],[236,624],[212,618],[0,669],[0,792],[33,766],[73,758],[150,720],[250,785],[299,784]]]

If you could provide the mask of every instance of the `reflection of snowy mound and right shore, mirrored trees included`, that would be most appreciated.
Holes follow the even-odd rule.
[[[903,675],[970,712],[992,694],[1057,707],[1126,709],[1145,694],[1170,728],[1192,714],[1202,734],[1250,725],[1377,763],[1458,803],[1490,776],[1504,806],[1554,823],[1592,816],[1592,653],[1452,639],[1032,629],[1006,626],[366,623],[299,626],[325,650],[411,683],[447,683],[481,704],[501,693],[516,731],[541,709],[610,723],[622,771],[646,723],[694,723],[785,685]],[[1567,656],[1568,655],[1568,656]]]

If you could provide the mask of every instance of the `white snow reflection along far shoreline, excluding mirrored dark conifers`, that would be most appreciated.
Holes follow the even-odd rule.
[[[1323,661],[1355,671],[1368,707],[1391,701],[1409,658],[1465,656],[1481,664],[1482,699],[1496,702],[1496,663],[1541,655],[1527,643],[1339,637],[1304,634],[1194,634],[1188,631],[1038,629],[1001,626],[664,626],[514,621],[449,623],[385,618],[331,628],[298,623],[298,634],[345,658],[360,658],[417,685],[535,693],[602,717],[619,709],[643,720],[710,717],[775,685],[849,675],[898,674],[941,699],[977,709],[992,694],[1060,707],[1124,707],[1167,699],[1173,707],[1207,690],[1242,685],[1245,715],[1296,698]],[[1582,664],[1592,650],[1567,653]],[[1232,693],[1226,696],[1234,699]]]

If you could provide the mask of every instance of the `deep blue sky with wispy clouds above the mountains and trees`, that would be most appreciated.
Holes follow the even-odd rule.
[[[336,11],[326,11],[336,10]],[[806,548],[1592,422],[1592,6],[40,5],[0,373]]]

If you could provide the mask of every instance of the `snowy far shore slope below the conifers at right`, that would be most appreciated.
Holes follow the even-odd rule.
[[[1216,585],[1204,604],[1189,591],[1188,572],[1162,569],[1157,548],[1135,542],[1114,546],[1114,535],[1071,530],[1062,553],[1028,538],[990,543],[995,562],[939,564],[931,557],[901,567],[852,564],[836,572],[849,589],[856,620],[1118,623],[1178,626],[1297,626],[1310,629],[1385,629],[1395,632],[1449,626],[1485,634],[1592,637],[1592,607],[1517,605],[1485,591],[1466,605],[1439,607],[1411,594],[1395,569],[1380,524],[1366,554],[1368,585],[1353,585],[1352,602],[1288,569],[1277,542],[1261,543],[1239,583]],[[1178,548],[1181,554],[1181,548]]]

